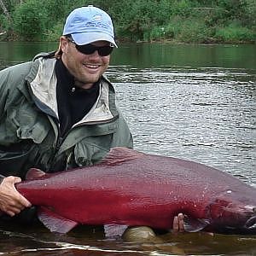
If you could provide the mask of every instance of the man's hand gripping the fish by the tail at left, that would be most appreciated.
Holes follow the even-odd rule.
[[[25,207],[32,204],[15,189],[15,183],[20,183],[20,177],[4,177],[0,184],[0,210],[13,217]]]

